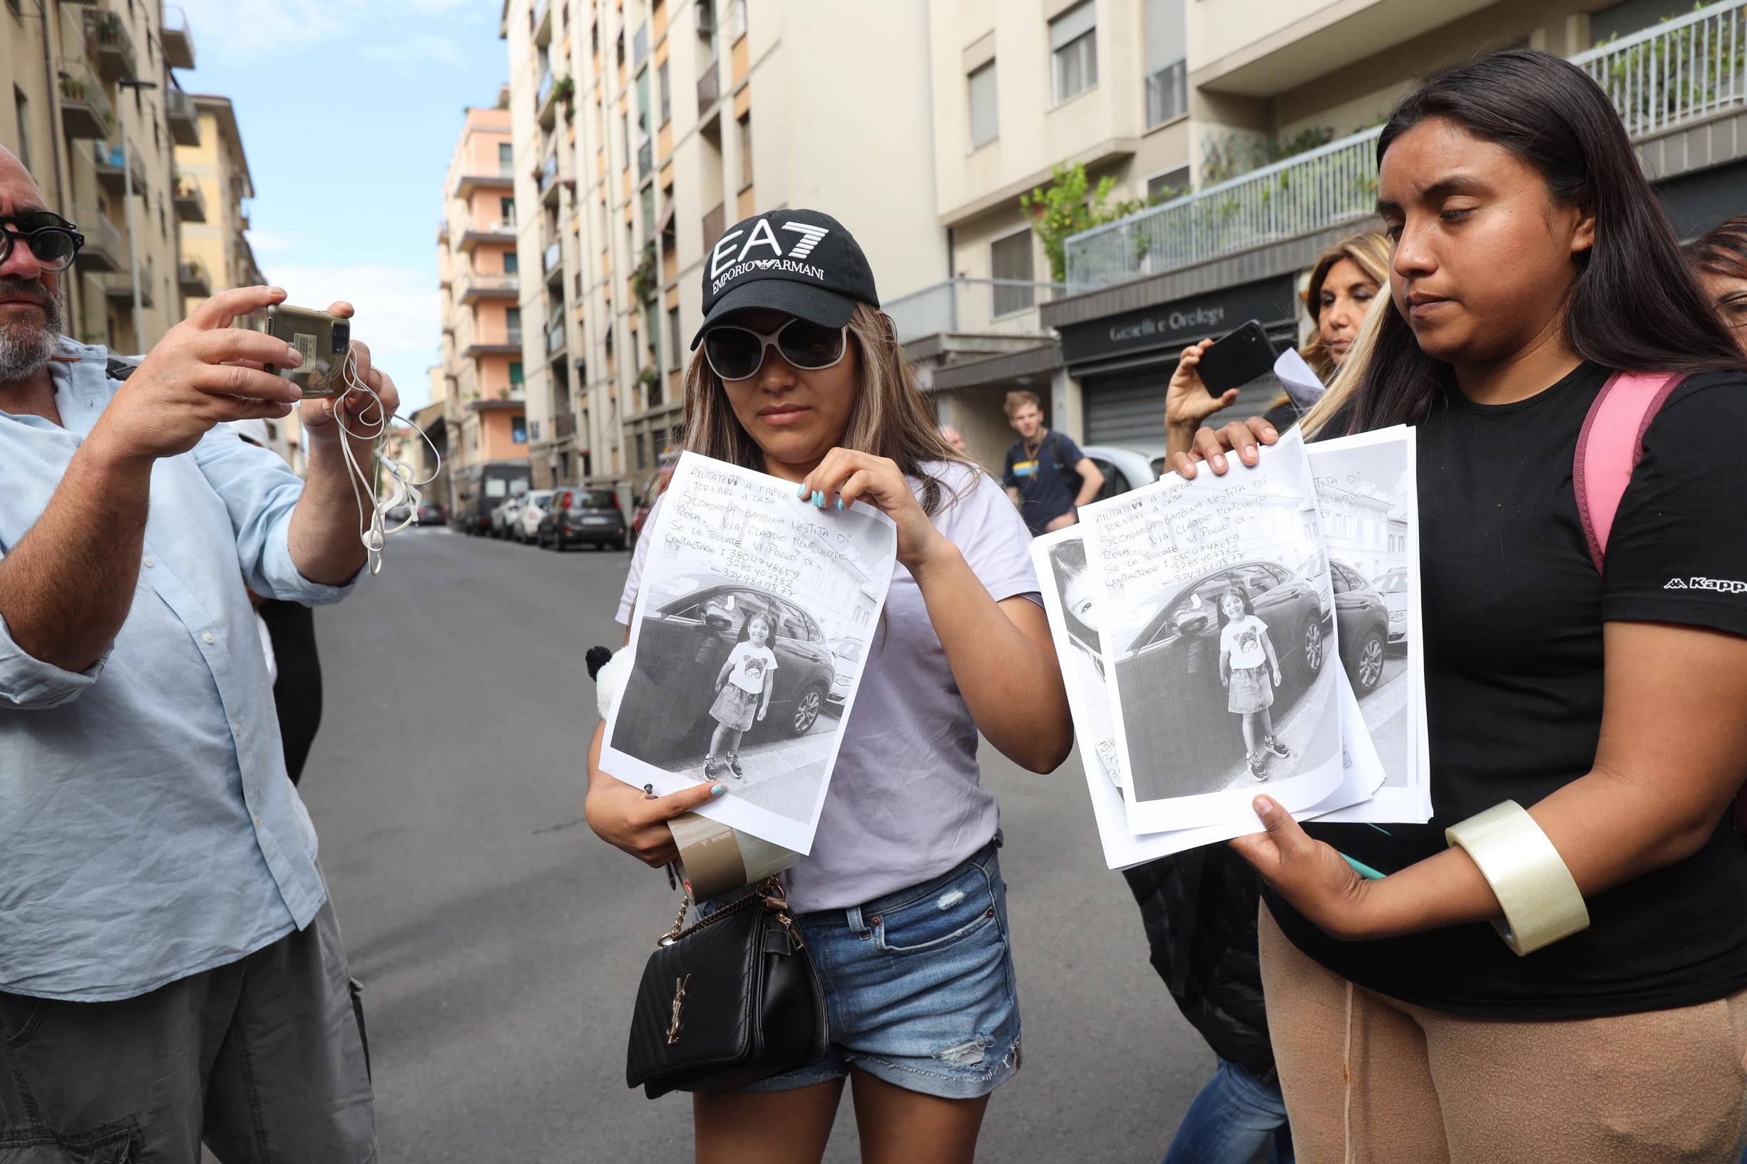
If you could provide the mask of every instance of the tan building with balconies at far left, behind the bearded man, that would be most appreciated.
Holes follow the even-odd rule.
[[[136,353],[182,319],[173,150],[199,117],[171,70],[192,66],[187,19],[159,0],[0,5],[0,145],[86,236],[63,277],[73,339]]]

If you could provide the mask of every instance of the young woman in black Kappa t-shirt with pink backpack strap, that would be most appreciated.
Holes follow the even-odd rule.
[[[1747,366],[1607,98],[1558,58],[1431,79],[1378,164],[1392,304],[1322,433],[1417,426],[1436,815],[1300,827],[1258,796],[1267,832],[1233,841],[1268,887],[1263,981],[1300,1159],[1733,1162]],[[1614,372],[1684,380],[1642,433],[1597,571],[1572,464]],[[1260,419],[1202,429],[1176,468],[1253,462],[1258,438],[1274,440]],[[1536,876],[1569,871],[1588,911],[1522,956],[1487,925],[1509,904],[1494,883],[1522,883],[1445,839],[1504,801],[1544,834]],[[1359,880],[1342,852],[1389,876]]]

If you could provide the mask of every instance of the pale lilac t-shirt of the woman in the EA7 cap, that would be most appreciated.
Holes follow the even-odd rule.
[[[1031,532],[1006,492],[970,466],[926,468],[947,497],[964,490],[935,513],[933,524],[994,600],[1024,595],[1038,602]],[[910,487],[921,492],[919,482]],[[653,522],[652,513],[645,529]],[[648,544],[648,537],[638,541],[618,602],[625,627]],[[978,780],[977,724],[922,593],[910,571],[898,565],[844,726],[812,853],[790,871],[788,900],[804,913],[844,909],[928,881],[987,845],[998,820],[994,792]]]

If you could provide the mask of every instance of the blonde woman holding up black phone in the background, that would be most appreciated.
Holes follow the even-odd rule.
[[[1377,230],[1347,236],[1315,260],[1305,288],[1305,309],[1310,312],[1314,332],[1300,354],[1324,384],[1347,361],[1371,302],[1387,283],[1389,239]],[[1200,372],[1195,370],[1202,353],[1211,346],[1212,340],[1205,339],[1184,347],[1165,389],[1167,454],[1188,452],[1195,429],[1237,400],[1235,387],[1223,396],[1209,393]],[[1267,421],[1288,429],[1298,421],[1298,410],[1282,393],[1268,405]]]

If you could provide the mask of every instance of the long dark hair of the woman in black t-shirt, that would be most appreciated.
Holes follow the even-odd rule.
[[[1595,246],[1576,257],[1565,344],[1614,372],[1731,372],[1740,349],[1705,302],[1649,188],[1619,113],[1578,66],[1536,49],[1506,49],[1455,65],[1405,96],[1377,140],[1391,143],[1445,119],[1502,145],[1565,206],[1595,215]],[[1450,389],[1450,365],[1420,351],[1394,304],[1356,393],[1352,431],[1417,421]]]

